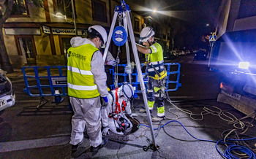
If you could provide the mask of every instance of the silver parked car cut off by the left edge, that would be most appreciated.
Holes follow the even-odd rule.
[[[15,93],[12,82],[7,77],[6,72],[0,69],[0,114],[4,109],[15,104]]]

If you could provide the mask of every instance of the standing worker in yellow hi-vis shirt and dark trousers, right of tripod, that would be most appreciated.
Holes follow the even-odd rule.
[[[154,41],[154,30],[152,27],[145,27],[140,32],[141,46],[136,45],[140,53],[146,55],[146,71],[148,74],[147,83],[147,98],[150,112],[153,111],[153,106],[157,106],[157,117],[152,117],[152,122],[159,122],[165,119],[165,80],[167,71],[164,66],[164,58],[162,46]],[[140,112],[146,112],[146,109],[141,109]]]

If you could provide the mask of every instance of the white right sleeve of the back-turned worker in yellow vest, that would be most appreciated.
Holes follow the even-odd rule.
[[[97,85],[100,96],[108,96],[107,75],[102,53],[99,51],[95,52],[91,58],[91,73],[94,74],[94,83]]]

